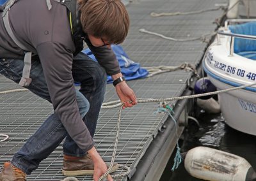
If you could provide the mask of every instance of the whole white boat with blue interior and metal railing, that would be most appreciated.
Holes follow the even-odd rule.
[[[230,19],[205,53],[203,66],[218,90],[256,83],[256,19]],[[228,126],[256,135],[256,86],[218,95]]]

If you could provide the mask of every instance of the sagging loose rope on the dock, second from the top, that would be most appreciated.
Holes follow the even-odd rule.
[[[172,37],[168,37],[168,36],[164,36],[163,34],[159,34],[159,33],[155,33],[155,32],[152,32],[152,31],[147,31],[146,29],[140,29],[139,30],[141,33],[147,33],[147,34],[153,34],[153,35],[156,35],[156,36],[159,36],[163,39],[166,39],[166,40],[172,40],[172,41],[195,41],[195,40],[202,40],[202,41],[205,41],[205,36],[209,35],[209,36],[213,36],[216,34],[216,32],[214,33],[207,33],[207,34],[203,34],[202,36],[200,37],[196,37],[196,38],[187,38],[187,39],[176,39],[176,38],[172,38]]]

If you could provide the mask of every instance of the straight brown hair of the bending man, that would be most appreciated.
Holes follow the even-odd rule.
[[[113,44],[122,43],[129,29],[129,15],[120,0],[78,0],[83,31]]]

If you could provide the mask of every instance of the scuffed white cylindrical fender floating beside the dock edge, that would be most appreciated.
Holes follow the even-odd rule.
[[[248,170],[252,171],[243,157],[208,147],[189,150],[184,164],[193,177],[211,181],[244,181],[248,179]]]

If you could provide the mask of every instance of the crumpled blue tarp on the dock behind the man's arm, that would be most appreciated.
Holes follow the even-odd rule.
[[[125,76],[126,80],[144,78],[148,75],[147,69],[143,69],[140,67],[140,64],[131,61],[131,59],[129,59],[128,55],[124,52],[124,49],[120,45],[111,45],[111,48],[116,55],[116,59],[119,62],[122,75]],[[93,61],[96,61],[94,55],[89,48],[83,50],[83,53],[91,57]],[[108,76],[108,83],[112,82],[113,80],[111,76]]]

